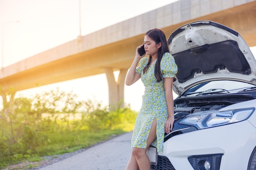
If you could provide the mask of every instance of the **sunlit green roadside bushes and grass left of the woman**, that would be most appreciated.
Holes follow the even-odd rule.
[[[23,159],[71,152],[133,129],[137,113],[129,107],[108,111],[97,101],[77,101],[76,97],[57,89],[4,103],[0,168]]]

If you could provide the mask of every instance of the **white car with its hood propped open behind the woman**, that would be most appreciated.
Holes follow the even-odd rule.
[[[256,170],[256,60],[244,39],[197,21],[168,43],[178,66],[175,123],[163,151],[150,148],[151,169]]]

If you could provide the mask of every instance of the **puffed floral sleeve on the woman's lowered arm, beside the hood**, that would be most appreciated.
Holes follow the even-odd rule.
[[[163,78],[174,77],[178,70],[175,60],[169,52],[164,53],[160,67]]]

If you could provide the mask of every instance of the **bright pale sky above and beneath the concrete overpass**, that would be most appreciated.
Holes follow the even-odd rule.
[[[82,36],[87,35],[175,1],[177,0],[0,0],[0,51],[3,59],[0,65],[6,67],[72,41],[79,36],[79,28]],[[73,91],[79,100],[91,99],[108,105],[105,74],[22,90],[16,93],[16,97],[29,97],[57,87],[65,92]],[[124,102],[138,111],[144,93],[143,84],[137,81],[124,88]]]

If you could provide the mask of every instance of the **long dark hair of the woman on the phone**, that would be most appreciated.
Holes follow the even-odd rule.
[[[160,68],[162,57],[165,52],[170,52],[170,50],[168,47],[166,36],[162,30],[155,28],[153,30],[149,30],[148,32],[146,32],[145,36],[146,35],[148,35],[148,37],[154,40],[156,44],[159,44],[159,42],[161,42],[162,44],[162,46],[158,49],[157,62],[155,63],[155,78],[157,79],[157,82],[159,82],[159,81],[162,81],[163,79],[161,74],[161,68]],[[148,70],[151,60],[152,60],[152,56],[150,55],[148,58],[148,63],[143,69],[143,73],[145,73]]]

